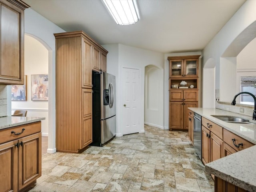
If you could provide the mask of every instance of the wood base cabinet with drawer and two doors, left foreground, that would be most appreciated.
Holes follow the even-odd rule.
[[[0,192],[23,191],[34,184],[42,174],[42,141],[41,132],[22,137],[11,134],[13,130],[22,130],[24,135],[41,130],[41,122],[29,125],[8,128],[0,131],[0,134],[8,134],[4,142],[0,138]],[[33,128],[36,128],[33,130]]]

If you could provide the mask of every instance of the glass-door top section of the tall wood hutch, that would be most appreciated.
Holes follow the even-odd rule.
[[[198,77],[198,58],[196,56],[168,57],[170,78]]]

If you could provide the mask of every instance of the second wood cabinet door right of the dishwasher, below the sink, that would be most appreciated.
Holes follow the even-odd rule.
[[[218,160],[223,157],[223,140],[211,132],[210,135],[210,162]]]

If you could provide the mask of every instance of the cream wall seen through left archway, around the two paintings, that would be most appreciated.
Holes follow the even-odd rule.
[[[48,50],[35,38],[24,36],[24,74],[27,76],[27,100],[12,101],[14,110],[28,110],[27,116],[45,117],[42,135],[48,136],[48,101],[31,100],[31,75],[48,74]]]

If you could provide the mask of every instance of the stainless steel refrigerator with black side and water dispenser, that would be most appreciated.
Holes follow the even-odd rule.
[[[92,72],[92,144],[102,146],[116,136],[116,77]]]

